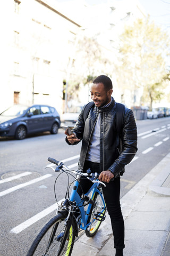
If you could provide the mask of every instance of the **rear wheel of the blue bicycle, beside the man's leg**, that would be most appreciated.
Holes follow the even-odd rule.
[[[99,214],[101,217],[103,217],[106,212],[106,205],[103,203],[103,199],[98,192],[95,193],[93,200],[95,201],[95,204],[91,206],[89,215],[89,222],[91,222],[90,230],[85,230],[88,237],[95,236],[101,225],[101,218],[96,218],[95,214]]]

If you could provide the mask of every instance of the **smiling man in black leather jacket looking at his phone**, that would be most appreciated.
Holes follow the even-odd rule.
[[[109,77],[98,76],[90,88],[91,99],[95,104],[86,121],[83,119],[84,106],[73,129],[75,135],[67,132],[65,134],[69,145],[76,145],[82,140],[79,169],[83,172],[89,168],[92,172],[98,171],[99,180],[106,182],[103,193],[112,223],[115,256],[123,256],[124,221],[120,206],[120,175],[137,152],[137,126],[132,110],[125,108],[120,152],[120,139],[115,126],[116,102],[111,96],[112,88]],[[84,193],[87,193],[90,186],[89,181],[81,180]]]

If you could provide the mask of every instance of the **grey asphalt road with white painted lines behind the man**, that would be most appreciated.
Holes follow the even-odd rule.
[[[137,121],[138,153],[121,178],[121,197],[169,151],[170,117]],[[45,169],[47,158],[77,167],[80,143],[65,143],[64,131],[30,136],[25,140],[0,138],[1,241],[0,256],[23,256],[44,223],[55,214],[54,182],[58,173]],[[56,182],[57,199],[64,198],[67,177]]]

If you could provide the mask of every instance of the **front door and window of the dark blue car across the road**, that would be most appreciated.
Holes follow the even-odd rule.
[[[40,106],[32,106],[27,111],[28,133],[43,131],[43,115],[41,115]]]

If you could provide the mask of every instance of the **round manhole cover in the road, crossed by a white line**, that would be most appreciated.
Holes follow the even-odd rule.
[[[27,172],[27,173],[25,173]],[[25,183],[27,181],[40,177],[41,174],[30,171],[12,171],[2,175],[1,179],[6,182],[13,182],[16,184]]]

